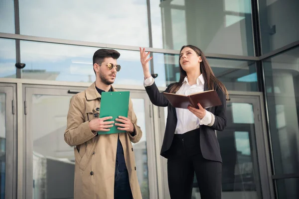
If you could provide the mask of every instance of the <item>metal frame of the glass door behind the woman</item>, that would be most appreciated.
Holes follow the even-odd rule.
[[[229,91],[229,102],[243,102],[243,103],[252,103],[254,108],[254,124],[255,124],[255,146],[257,151],[257,160],[253,160],[253,163],[256,162],[256,165],[259,171],[260,182],[256,184],[260,185],[260,195],[262,195],[263,199],[272,199],[274,198],[274,188],[272,181],[272,169],[271,169],[271,161],[270,161],[270,150],[268,143],[268,134],[266,128],[266,117],[265,117],[265,109],[263,102],[263,93],[261,92],[238,92],[238,91]],[[161,148],[161,143],[163,141],[164,130],[165,130],[165,121],[164,121],[164,107],[154,106],[155,111],[158,115],[158,125],[159,125],[159,149]],[[221,132],[219,132],[221,133]],[[157,157],[158,159],[158,157]],[[161,175],[162,179],[158,179],[160,183],[162,183],[162,198],[169,198],[168,191],[168,182],[167,182],[167,163],[166,159],[160,156]],[[162,172],[164,171],[164,172]],[[256,179],[256,178],[255,178]],[[257,182],[256,182],[257,183]],[[257,189],[257,192],[259,189]],[[259,195],[259,193],[258,193]]]

